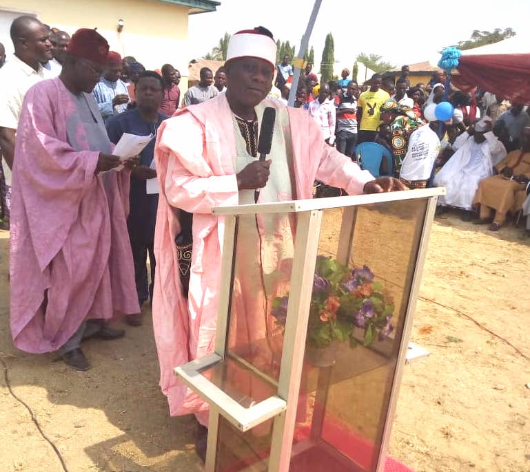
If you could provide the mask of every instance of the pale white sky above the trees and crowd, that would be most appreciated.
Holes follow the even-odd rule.
[[[201,58],[230,34],[262,25],[281,39],[296,44],[307,28],[314,0],[218,0],[216,12],[190,15],[190,59]],[[325,36],[332,32],[335,61],[353,66],[357,54],[383,56],[393,65],[437,61],[447,45],[470,38],[473,30],[513,28],[529,36],[530,0],[412,1],[416,8],[396,0],[372,3],[322,0],[309,46],[320,63]],[[490,6],[493,5],[493,6]],[[343,23],[341,23],[343,21]],[[530,52],[530,41],[529,41]]]

